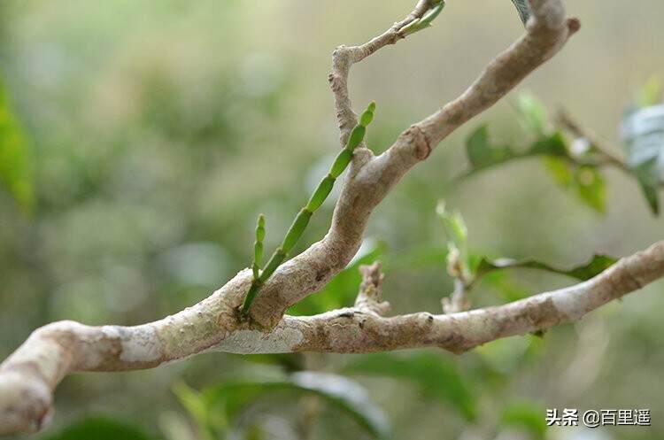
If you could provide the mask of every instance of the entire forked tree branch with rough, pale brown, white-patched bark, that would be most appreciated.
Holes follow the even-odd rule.
[[[404,38],[400,30],[431,6],[421,0],[404,20],[356,47],[334,52],[329,80],[345,140],[356,124],[348,96],[353,63]],[[202,302],[163,320],[136,327],[89,327],[73,321],[35,330],[0,365],[0,434],[42,427],[58,382],[76,371],[156,367],[204,351],[276,353],[369,352],[435,346],[459,353],[500,337],[521,335],[578,320],[585,313],[664,276],[664,242],[652,245],[588,282],[508,305],[434,315],[386,317],[382,274],[363,269],[354,307],[310,317],[284,316],[297,301],[321,289],[359,249],[372,210],[445,136],[495,104],[526,75],[551,58],[578,28],[560,0],[531,0],[527,33],[487,66],[456,100],[409,127],[382,155],[356,150],[328,234],[283,264],[260,291],[243,320],[238,307],[251,284],[243,270]]]

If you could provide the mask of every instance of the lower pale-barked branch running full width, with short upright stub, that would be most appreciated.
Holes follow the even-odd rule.
[[[379,266],[363,269],[352,308],[284,316],[272,330],[238,324],[228,293],[248,287],[246,271],[187,310],[136,327],[60,321],[39,328],[0,366],[0,434],[40,428],[66,374],[156,367],[204,351],[359,353],[440,347],[454,353],[579,320],[664,276],[664,241],[621,259],[587,282],[470,312],[383,317]],[[235,300],[242,299],[235,297]],[[236,301],[237,302],[237,301]],[[239,304],[239,302],[237,302]]]

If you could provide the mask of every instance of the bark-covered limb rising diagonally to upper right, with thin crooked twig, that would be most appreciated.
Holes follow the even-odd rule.
[[[347,77],[351,62],[398,41],[398,29],[428,9],[429,3],[421,1],[408,18],[371,42],[342,48],[341,52],[336,50],[331,83],[342,140],[357,120],[348,99]],[[560,0],[533,0],[531,9],[533,15],[527,33],[491,61],[459,98],[409,127],[382,155],[374,157],[366,148],[355,151],[328,235],[274,273],[251,307],[254,320],[272,327],[290,305],[322,289],[358,251],[369,215],[401,177],[428,158],[432,149],[454,129],[495,104],[551,58],[580,26],[577,19],[565,18]],[[343,59],[346,61],[340,61]]]

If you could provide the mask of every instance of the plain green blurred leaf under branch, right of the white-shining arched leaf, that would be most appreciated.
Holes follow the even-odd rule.
[[[411,381],[425,396],[452,405],[467,420],[473,421],[477,415],[476,398],[456,365],[434,354],[407,358],[392,353],[369,354],[353,360],[344,371]]]

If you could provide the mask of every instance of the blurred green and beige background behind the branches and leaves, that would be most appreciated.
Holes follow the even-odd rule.
[[[131,325],[196,303],[248,266],[259,212],[274,249],[338,149],[331,51],[367,41],[412,3],[2,0],[0,75],[30,149],[32,174],[23,175],[34,197],[18,203],[0,190],[0,358],[53,320]],[[622,113],[648,77],[664,73],[664,3],[567,3],[582,31],[519,90],[549,112],[567,108],[620,152]],[[457,96],[522,31],[507,0],[451,1],[434,27],[354,66],[356,107],[378,103],[369,146],[383,151]],[[467,169],[463,144],[474,127],[487,123],[501,142],[524,144],[516,93],[445,140],[375,212],[360,252],[385,261],[384,296],[394,312],[438,313],[452,290],[435,214],[441,198],[464,215],[471,248],[494,257],[573,266],[662,237],[664,220],[648,210],[634,179],[612,169],[604,174],[604,214],[560,189],[537,158],[452,185]],[[333,202],[299,251],[324,234]],[[299,313],[347,304],[358,280],[352,268]],[[481,283],[473,301],[500,304],[506,291],[529,295],[572,282],[513,272]],[[663,293],[658,282],[544,339],[511,338],[459,357],[210,353],[150,371],[77,374],[58,388],[55,419],[39,438],[103,416],[150,438],[207,440],[191,405],[181,403],[183,384],[205,390],[238,375],[304,368],[366,387],[398,439],[661,438]],[[401,373],[382,377],[375,367],[382,362]],[[650,408],[652,428],[543,433],[544,409],[563,407]],[[369,437],[335,405],[291,392],[260,396],[226,427],[217,436]]]

